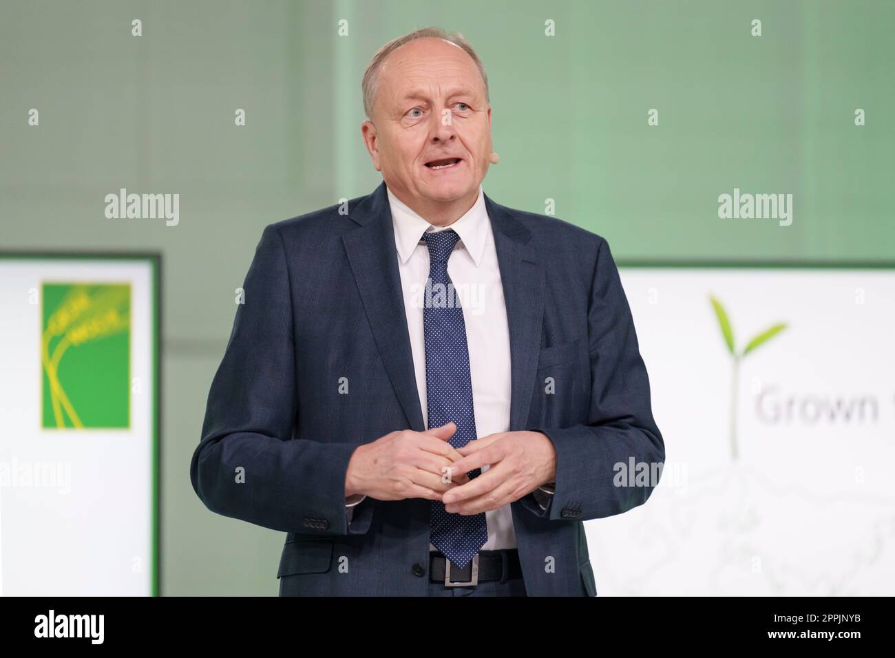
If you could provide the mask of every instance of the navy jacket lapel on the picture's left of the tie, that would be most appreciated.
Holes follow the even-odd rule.
[[[386,184],[349,213],[360,226],[342,240],[379,355],[411,429],[424,432]]]

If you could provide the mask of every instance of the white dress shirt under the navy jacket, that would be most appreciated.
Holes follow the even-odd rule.
[[[510,409],[510,345],[507,327],[507,306],[500,282],[498,253],[494,245],[490,218],[485,208],[484,192],[473,207],[450,226],[432,226],[413,209],[388,190],[392,225],[395,230],[398,270],[404,295],[407,331],[413,352],[413,370],[420,397],[422,418],[429,427],[429,406],[426,404],[426,345],[422,312],[426,280],[429,278],[429,249],[422,241],[426,231],[453,229],[460,236],[447,260],[447,274],[455,286],[466,327],[469,366],[473,381],[473,412],[476,436],[509,431]],[[489,466],[482,466],[482,473]],[[552,494],[548,486],[539,488],[536,499],[546,509]],[[354,505],[366,496],[346,500],[349,522]],[[510,506],[485,512],[488,541],[482,551],[516,548],[516,533]],[[430,551],[437,551],[431,543]]]

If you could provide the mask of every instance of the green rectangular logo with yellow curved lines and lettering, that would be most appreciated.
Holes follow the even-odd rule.
[[[130,284],[42,288],[43,427],[130,427]]]

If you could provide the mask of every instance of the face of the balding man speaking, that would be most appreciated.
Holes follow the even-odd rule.
[[[491,108],[472,57],[440,38],[397,48],[379,69],[372,115],[364,143],[398,198],[417,209],[472,205],[491,153]]]

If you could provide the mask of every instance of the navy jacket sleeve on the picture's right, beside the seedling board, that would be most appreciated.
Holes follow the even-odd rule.
[[[661,474],[665,445],[652,418],[650,382],[631,310],[609,244],[602,238],[591,284],[588,339],[588,422],[535,430],[546,434],[557,452],[550,506],[541,508],[532,496],[520,499],[539,517],[584,521],[622,514],[643,505],[659,483],[658,477],[635,478],[637,472]],[[637,470],[629,480],[632,465]]]

